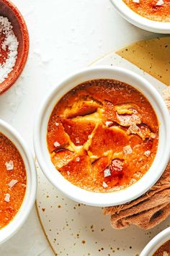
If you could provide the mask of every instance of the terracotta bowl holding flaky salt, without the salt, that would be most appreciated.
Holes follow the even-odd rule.
[[[17,36],[17,40],[19,42],[15,66],[12,72],[9,73],[6,80],[0,83],[1,94],[8,90],[14,84],[14,82],[18,79],[19,75],[24,69],[24,65],[27,61],[29,51],[29,35],[27,25],[24,22],[22,14],[19,12],[17,7],[12,4],[11,1],[0,0],[0,16],[7,17],[12,23],[14,34]]]

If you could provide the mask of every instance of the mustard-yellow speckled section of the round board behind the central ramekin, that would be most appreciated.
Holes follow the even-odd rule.
[[[138,41],[116,54],[170,85],[170,37]]]

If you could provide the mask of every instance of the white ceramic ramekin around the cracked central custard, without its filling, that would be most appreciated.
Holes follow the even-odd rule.
[[[76,87],[76,85],[79,85],[81,82],[102,78],[127,82],[143,93],[143,95],[146,95],[146,98],[148,98],[148,101],[150,101],[151,105],[156,111],[158,121],[160,123],[158,152],[151,168],[143,176],[143,178],[140,179],[140,181],[136,182],[132,186],[128,187],[127,189],[110,193],[88,192],[74,186],[64,179],[60,172],[55,169],[50,160],[50,154],[48,152],[46,142],[48,121],[55,104],[58,103],[63,95],[68,93],[69,90]],[[93,67],[81,70],[76,74],[72,74],[66,80],[60,82],[45,98],[45,101],[42,103],[35,121],[35,153],[37,155],[37,161],[39,162],[45,176],[48,177],[49,181],[54,187],[61,190],[61,192],[65,193],[68,197],[71,197],[71,199],[78,202],[83,202],[87,205],[119,205],[129,202],[130,200],[133,200],[145,193],[153,186],[153,184],[156,183],[158,178],[164,172],[170,155],[169,130],[169,111],[167,110],[161,95],[149,82],[143,79],[143,77],[140,77],[138,74],[135,74],[128,69],[122,69],[120,67]]]

